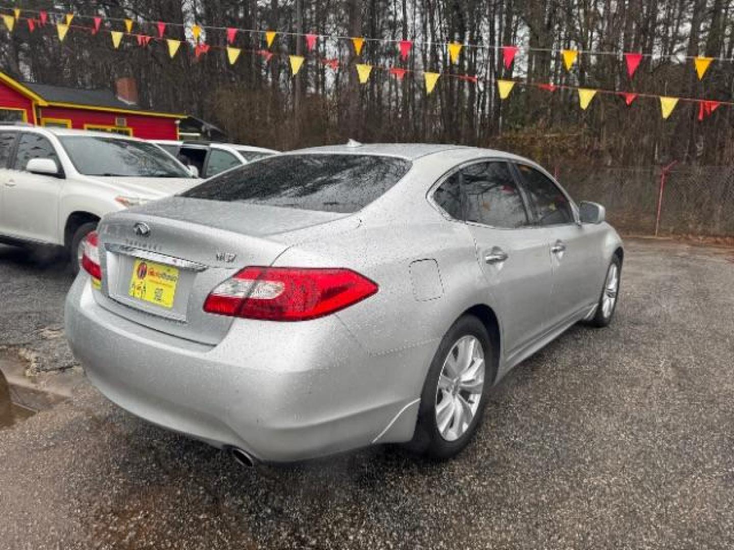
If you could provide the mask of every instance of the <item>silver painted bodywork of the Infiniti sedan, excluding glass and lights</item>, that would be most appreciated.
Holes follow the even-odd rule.
[[[190,274],[178,318],[131,307],[119,288],[115,296],[111,266],[123,278],[131,270],[114,267],[119,254],[104,254],[101,291],[80,274],[67,300],[67,335],[111,400],[265,461],[408,441],[427,370],[457,318],[473,307],[495,313],[496,382],[592,312],[622,246],[606,223],[500,230],[447,219],[432,202],[435,185],[466,163],[498,158],[540,169],[515,155],[409,144],[284,154],[309,153],[394,155],[413,166],[351,215],[173,197],[103,220],[108,251],[138,247],[207,266]],[[134,235],[138,221],[150,226],[146,242]],[[567,244],[561,257],[551,252],[559,239]],[[495,246],[509,252],[501,266],[482,261]],[[236,260],[217,260],[218,250]],[[245,265],[351,268],[379,292],[298,323],[204,314],[206,294]]]

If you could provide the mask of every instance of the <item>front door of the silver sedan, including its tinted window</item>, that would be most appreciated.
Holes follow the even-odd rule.
[[[575,207],[558,184],[534,166],[517,163],[535,216],[548,239],[553,267],[550,328],[567,323],[594,304],[600,293],[597,276],[601,261],[600,231],[577,223]]]

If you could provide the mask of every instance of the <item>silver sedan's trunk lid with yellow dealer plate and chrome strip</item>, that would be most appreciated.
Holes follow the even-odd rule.
[[[203,311],[208,293],[247,265],[272,265],[298,232],[344,214],[172,197],[99,227],[101,306],[135,323],[216,345],[232,318]]]

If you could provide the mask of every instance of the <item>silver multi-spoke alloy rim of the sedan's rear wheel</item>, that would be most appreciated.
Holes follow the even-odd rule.
[[[478,338],[459,338],[443,362],[436,389],[436,425],[446,441],[456,441],[479,410],[484,388],[484,349]]]

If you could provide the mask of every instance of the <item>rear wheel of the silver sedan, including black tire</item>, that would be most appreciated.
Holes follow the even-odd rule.
[[[462,344],[462,342],[464,343]],[[457,388],[457,381],[462,379],[462,374],[454,377],[446,376],[449,371],[445,371],[445,369],[451,370],[452,364],[456,365],[460,361],[459,348],[467,344],[481,346],[483,384],[479,393],[469,394],[462,389],[461,384]],[[490,336],[484,324],[478,318],[473,315],[464,315],[451,326],[451,329],[441,340],[431,362],[428,375],[426,375],[424,389],[421,394],[421,405],[418,409],[418,422],[415,427],[413,441],[409,444],[411,450],[429,458],[446,460],[457,455],[467,446],[476,432],[476,428],[482,422],[487,394],[495,380],[496,367],[493,361],[493,353]],[[449,354],[451,354],[454,361],[449,359]],[[450,362],[451,364],[449,364]],[[468,367],[468,370],[462,371],[463,375],[471,375],[472,368]],[[456,371],[453,374],[456,375]],[[451,380],[451,378],[454,379]],[[479,377],[476,376],[476,378]],[[439,386],[439,382],[441,382],[441,386]],[[476,391],[476,387],[473,389]],[[452,397],[453,406],[451,404]],[[463,403],[459,399],[463,400]],[[458,417],[455,416],[457,407],[460,408],[462,414],[460,422],[457,422]],[[452,412],[448,425],[446,425],[448,408],[451,408]],[[473,411],[473,413],[470,421],[466,422],[464,415],[468,416],[470,411]]]

